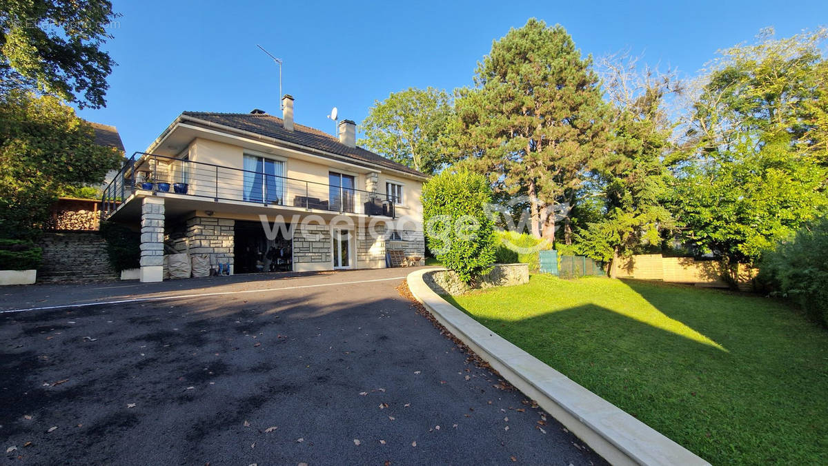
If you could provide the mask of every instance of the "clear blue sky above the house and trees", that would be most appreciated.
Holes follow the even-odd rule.
[[[763,27],[791,36],[828,23],[825,0],[113,3],[123,17],[105,46],[118,62],[108,105],[79,114],[117,126],[128,154],[185,110],[281,117],[277,66],[256,44],[284,60],[296,123],[333,132],[333,106],[360,123],[389,93],[472,84],[493,39],[529,17],[566,27],[584,55],[629,49],[685,75]]]

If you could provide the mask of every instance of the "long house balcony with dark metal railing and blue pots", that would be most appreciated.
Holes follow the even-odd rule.
[[[245,167],[247,168],[247,163]],[[328,184],[279,175],[275,164],[253,170],[136,152],[103,190],[103,216],[138,190],[170,193],[214,202],[241,201],[262,206],[394,217],[394,204],[384,195],[357,190],[353,180],[339,177]],[[330,178],[332,181],[334,177]]]

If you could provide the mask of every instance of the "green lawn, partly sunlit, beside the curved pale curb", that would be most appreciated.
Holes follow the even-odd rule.
[[[541,275],[450,300],[712,464],[828,464],[828,332],[785,303]]]

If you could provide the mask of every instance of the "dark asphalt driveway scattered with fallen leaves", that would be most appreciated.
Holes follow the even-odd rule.
[[[404,275],[5,289],[6,310],[123,302],[0,314],[0,458],[604,463],[417,315]]]

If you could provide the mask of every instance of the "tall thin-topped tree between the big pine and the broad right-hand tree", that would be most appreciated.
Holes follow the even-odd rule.
[[[672,125],[663,98],[672,92],[671,76],[635,68],[634,59],[605,60],[608,94],[613,106],[610,151],[594,171],[593,190],[600,190],[604,215],[582,228],[581,252],[609,262],[643,246],[662,242],[673,227],[663,201],[670,174],[662,156],[670,150]]]

